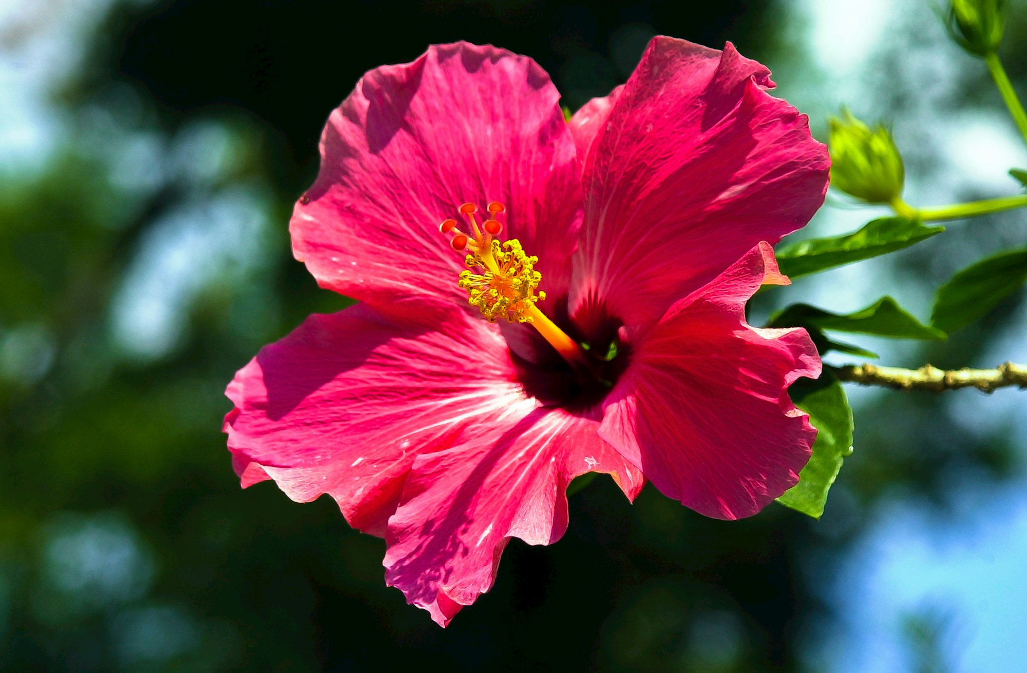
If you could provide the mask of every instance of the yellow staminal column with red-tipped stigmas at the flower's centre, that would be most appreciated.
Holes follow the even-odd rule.
[[[447,220],[440,226],[444,234],[454,234],[453,249],[467,250],[464,261],[467,270],[460,273],[459,281],[460,287],[467,290],[467,302],[492,322],[505,318],[509,322],[530,323],[565,360],[588,369],[588,360],[577,342],[535,306],[545,299],[544,291],[535,291],[542,279],[542,274],[535,271],[538,258],[526,254],[516,238],[496,240],[502,225],[495,217],[504,210],[501,203],[490,203],[490,216],[479,227],[474,220],[478,207],[464,203],[460,212],[470,221],[469,233],[457,229],[455,220]]]

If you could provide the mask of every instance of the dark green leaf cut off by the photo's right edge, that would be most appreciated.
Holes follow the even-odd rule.
[[[984,317],[1027,282],[1027,247],[985,258],[938,289],[930,324],[952,332]]]

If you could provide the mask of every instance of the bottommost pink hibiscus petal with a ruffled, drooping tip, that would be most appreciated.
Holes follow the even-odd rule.
[[[388,522],[385,579],[442,626],[493,584],[510,538],[553,544],[567,529],[567,485],[610,472],[630,499],[637,468],[599,439],[599,413],[520,404],[476,424],[453,448],[414,461]]]

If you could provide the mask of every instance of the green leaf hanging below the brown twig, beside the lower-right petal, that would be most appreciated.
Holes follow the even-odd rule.
[[[799,473],[799,483],[777,502],[819,519],[842,462],[852,453],[852,409],[841,384],[830,373],[816,381],[800,380],[789,394],[795,405],[809,414],[816,441],[809,463]]]

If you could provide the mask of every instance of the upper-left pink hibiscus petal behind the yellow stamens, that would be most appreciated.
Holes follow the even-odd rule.
[[[531,58],[463,42],[369,72],[329,118],[293,253],[322,287],[375,306],[465,306],[463,254],[439,224],[461,203],[499,201],[506,235],[539,256],[543,288],[565,293],[580,166],[559,97]]]

